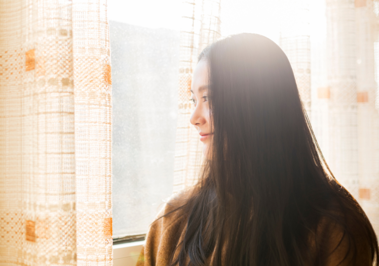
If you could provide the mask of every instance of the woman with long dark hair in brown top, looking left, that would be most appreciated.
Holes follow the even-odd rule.
[[[325,163],[279,46],[243,33],[198,59],[190,122],[205,165],[152,223],[138,265],[379,265],[374,229]]]

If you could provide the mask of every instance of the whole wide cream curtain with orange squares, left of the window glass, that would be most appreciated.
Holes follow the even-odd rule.
[[[106,0],[0,0],[0,265],[112,265]]]

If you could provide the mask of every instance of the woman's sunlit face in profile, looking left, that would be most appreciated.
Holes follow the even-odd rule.
[[[200,60],[193,72],[191,83],[191,101],[195,109],[192,112],[190,122],[199,133],[203,142],[203,154],[208,158],[210,139],[213,136],[209,124],[208,105],[208,63]]]

